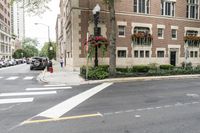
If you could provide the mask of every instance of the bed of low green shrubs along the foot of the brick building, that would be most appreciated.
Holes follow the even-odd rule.
[[[88,73],[89,80],[98,80],[109,78],[108,72],[109,66],[99,66],[97,68],[90,67]],[[170,76],[170,75],[186,75],[186,74],[200,74],[200,67],[174,67],[171,65],[161,65],[156,69],[150,67],[150,65],[138,65],[131,68],[116,68],[117,75],[119,77],[146,77],[146,76]],[[81,68],[81,76],[85,78],[86,68]]]

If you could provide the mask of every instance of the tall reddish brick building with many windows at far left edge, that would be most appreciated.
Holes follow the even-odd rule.
[[[0,0],[0,59],[12,57],[10,11],[9,0]]]

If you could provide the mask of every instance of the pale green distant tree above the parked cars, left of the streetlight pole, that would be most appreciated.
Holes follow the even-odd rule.
[[[31,38],[25,38],[22,49],[26,51],[26,56],[24,57],[33,57],[38,55],[38,49],[37,49],[38,41],[37,39],[31,39]]]

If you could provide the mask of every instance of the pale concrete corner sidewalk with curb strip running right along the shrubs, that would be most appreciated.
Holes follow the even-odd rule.
[[[47,72],[47,70],[44,70],[38,76],[37,79],[47,84],[80,85],[80,84],[94,84],[94,83],[102,83],[102,82],[126,82],[126,81],[162,80],[162,79],[200,78],[200,74],[196,74],[196,75],[109,78],[109,79],[104,79],[104,80],[86,81],[85,79],[79,76],[80,71],[73,71],[67,67],[61,68],[59,62],[53,61],[53,69],[54,69],[53,73],[50,73],[50,72]]]

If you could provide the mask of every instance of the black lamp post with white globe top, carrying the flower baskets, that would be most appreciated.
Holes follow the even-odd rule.
[[[100,28],[98,27],[99,23],[99,14],[100,14],[100,6],[97,4],[94,9],[92,10],[93,17],[94,17],[94,37],[100,36]],[[94,66],[98,66],[98,47],[97,45],[95,46],[95,59],[94,59]]]

